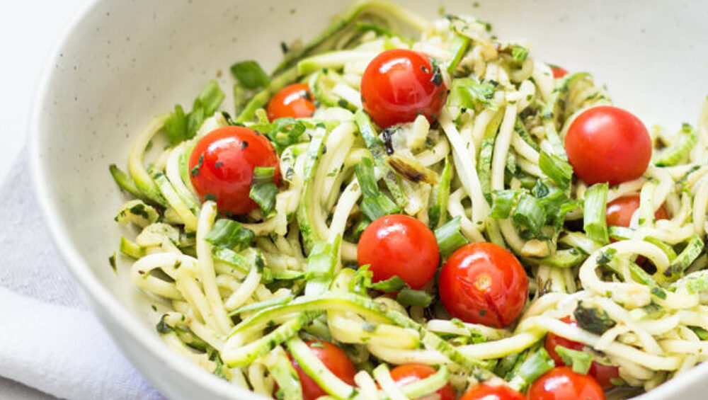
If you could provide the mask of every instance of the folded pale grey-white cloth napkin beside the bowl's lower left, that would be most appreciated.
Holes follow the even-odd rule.
[[[26,151],[0,186],[0,376],[69,399],[164,399],[86,311],[55,250]]]

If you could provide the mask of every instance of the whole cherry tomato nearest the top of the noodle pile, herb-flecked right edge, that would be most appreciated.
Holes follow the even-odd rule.
[[[387,50],[369,63],[361,78],[364,110],[379,127],[411,122],[423,114],[433,122],[445,103],[447,88],[426,55]]]

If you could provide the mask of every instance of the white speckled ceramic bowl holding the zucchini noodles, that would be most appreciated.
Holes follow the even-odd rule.
[[[406,1],[438,17],[439,6],[491,21],[501,38],[526,38],[532,54],[594,72],[615,102],[647,125],[694,121],[708,93],[708,4],[698,1]],[[149,118],[189,105],[241,59],[273,67],[279,43],[311,38],[346,1],[296,5],[261,0],[96,1],[59,41],[30,120],[31,162],[47,224],[93,312],[125,355],[173,399],[259,399],[173,354],[156,335],[155,304],[118,275],[113,222],[125,200],[108,164],[125,166],[131,139]],[[295,10],[295,11],[291,11]],[[226,107],[229,105],[227,103]],[[708,365],[644,399],[702,399]]]

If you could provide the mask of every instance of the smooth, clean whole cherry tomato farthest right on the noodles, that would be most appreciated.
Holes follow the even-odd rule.
[[[639,178],[651,159],[651,139],[639,118],[601,105],[583,111],[566,135],[568,161],[586,183],[610,186]]]

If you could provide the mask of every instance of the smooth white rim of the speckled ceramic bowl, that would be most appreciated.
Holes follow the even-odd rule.
[[[42,219],[50,232],[52,242],[55,244],[72,278],[79,284],[82,292],[89,295],[91,301],[88,302],[87,305],[89,305],[91,312],[96,315],[98,321],[103,325],[104,330],[108,333],[113,343],[120,349],[122,355],[124,355],[131,364],[139,370],[142,377],[153,384],[156,389],[159,389],[159,387],[152,376],[149,375],[147,371],[141,370],[138,365],[130,360],[130,357],[127,355],[128,352],[123,350],[121,342],[115,338],[115,332],[106,329],[106,322],[103,318],[109,319],[111,323],[117,326],[122,326],[125,333],[130,336],[129,340],[133,343],[137,343],[142,350],[152,355],[154,359],[162,362],[165,368],[172,370],[176,375],[186,377],[200,384],[202,388],[208,388],[212,391],[212,394],[233,399],[244,399],[244,396],[248,400],[267,399],[249,389],[231,384],[206,372],[201,367],[198,367],[198,365],[178,355],[171,350],[166,343],[150,332],[149,329],[137,319],[135,314],[130,312],[108,289],[103,287],[98,278],[93,275],[89,263],[81,256],[81,253],[74,247],[71,241],[69,241],[69,236],[64,234],[64,225],[60,222],[59,217],[57,217],[57,215],[59,215],[57,207],[54,202],[50,201],[50,189],[47,184],[47,176],[42,168],[43,161],[40,157],[42,135],[41,121],[44,118],[42,106],[47,103],[47,95],[50,93],[52,77],[55,74],[54,65],[59,61],[59,54],[62,52],[64,45],[66,45],[69,38],[72,38],[77,28],[85,22],[89,14],[98,8],[99,5],[106,2],[108,2],[108,0],[87,1],[86,4],[79,8],[79,11],[72,17],[69,23],[64,25],[62,33],[59,34],[51,50],[48,52],[47,57],[45,57],[45,66],[42,67],[37,81],[38,84],[35,86],[28,120],[27,151],[29,156],[30,181],[32,181],[35,198],[40,205]],[[96,307],[96,304],[98,304],[98,307]],[[105,310],[106,313],[99,316],[99,312],[103,310]],[[704,376],[708,376],[708,362],[702,362],[680,376],[673,377],[669,381],[633,399],[670,399],[672,396],[680,395],[682,389],[699,384],[700,381],[704,379]],[[163,392],[161,392],[161,394],[163,396],[165,395]]]

